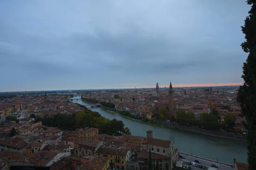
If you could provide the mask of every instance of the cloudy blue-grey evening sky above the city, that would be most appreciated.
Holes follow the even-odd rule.
[[[1,0],[0,91],[241,84],[245,0]]]

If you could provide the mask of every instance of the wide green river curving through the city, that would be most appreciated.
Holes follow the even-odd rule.
[[[77,98],[79,98],[79,96],[73,97],[72,99]],[[73,102],[81,105],[90,105],[82,100],[73,100]],[[234,158],[236,158],[236,161],[247,163],[246,141],[209,136],[183,130],[154,127],[125,119],[118,113],[108,113],[103,111],[102,108],[90,108],[90,106],[87,108],[92,111],[99,112],[102,116],[108,119],[122,120],[125,127],[130,129],[132,135],[146,136],[147,130],[153,130],[154,138],[175,141],[174,146],[180,152],[212,159],[215,161],[218,159],[218,161],[228,164],[233,164]]]

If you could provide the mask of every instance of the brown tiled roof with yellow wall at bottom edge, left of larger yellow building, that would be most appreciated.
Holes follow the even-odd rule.
[[[81,164],[81,170],[109,170],[109,159],[105,156],[95,157]]]

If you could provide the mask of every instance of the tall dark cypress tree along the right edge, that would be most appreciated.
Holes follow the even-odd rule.
[[[246,62],[243,65],[242,78],[244,85],[240,86],[237,101],[241,106],[241,113],[247,119],[247,161],[249,170],[256,167],[256,1],[247,0],[247,4],[251,6],[248,12],[249,16],[244,20],[244,26],[241,27],[245,34],[245,41],[241,43],[244,52],[248,53]]]

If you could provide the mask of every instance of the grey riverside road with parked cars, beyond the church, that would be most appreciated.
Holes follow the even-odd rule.
[[[186,166],[190,166],[192,168],[192,170],[202,170],[199,167],[195,167],[192,165],[188,165],[188,161],[191,162],[195,162],[195,157],[194,156],[187,156],[187,155],[182,155],[185,157],[185,159],[180,159],[180,161],[185,161]],[[218,164],[219,168],[213,168],[212,164],[216,164],[215,162],[211,162],[211,161],[206,161],[204,159],[197,159],[198,161],[201,161],[200,164],[206,165],[208,167],[208,170],[233,170],[233,167],[227,166],[227,165],[223,165],[223,164]]]

